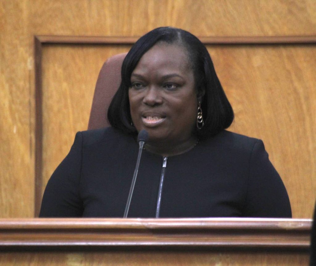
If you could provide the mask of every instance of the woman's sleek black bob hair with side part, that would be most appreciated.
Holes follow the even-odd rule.
[[[125,133],[137,134],[136,128],[131,123],[128,98],[131,74],[143,54],[158,42],[184,46],[188,52],[204,118],[204,127],[196,130],[197,137],[213,136],[228,128],[234,120],[234,112],[216,75],[210,54],[193,34],[171,27],[153,29],[138,39],[127,53],[121,69],[122,81],[107,113],[112,127]]]

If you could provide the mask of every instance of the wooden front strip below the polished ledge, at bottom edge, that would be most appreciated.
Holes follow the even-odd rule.
[[[309,256],[293,252],[240,254],[224,251],[90,251],[90,252],[1,252],[6,266],[308,266]]]

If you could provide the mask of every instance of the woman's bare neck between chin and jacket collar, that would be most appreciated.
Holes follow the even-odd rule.
[[[154,142],[149,141],[145,145],[145,149],[149,152],[159,154],[163,157],[179,155],[190,151],[197,144],[197,138],[191,137],[182,142],[175,143],[174,141]]]

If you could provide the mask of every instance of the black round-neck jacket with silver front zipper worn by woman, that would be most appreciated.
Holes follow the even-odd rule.
[[[78,132],[50,178],[40,217],[123,217],[137,160],[133,136]],[[143,151],[128,217],[154,217],[162,157]],[[160,217],[291,217],[263,142],[222,131],[167,158]]]

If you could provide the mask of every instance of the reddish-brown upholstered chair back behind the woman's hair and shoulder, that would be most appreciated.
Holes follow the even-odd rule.
[[[109,126],[107,109],[121,83],[121,67],[125,56],[126,53],[114,55],[103,64],[95,84],[88,129]]]

